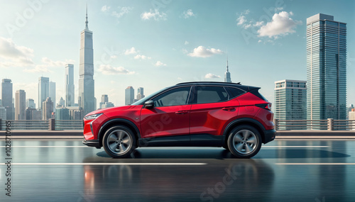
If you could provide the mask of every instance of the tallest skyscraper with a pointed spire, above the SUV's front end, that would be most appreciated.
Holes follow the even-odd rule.
[[[80,34],[79,66],[79,107],[84,113],[95,110],[94,98],[94,50],[92,49],[92,31],[89,30],[86,14],[85,29]]]

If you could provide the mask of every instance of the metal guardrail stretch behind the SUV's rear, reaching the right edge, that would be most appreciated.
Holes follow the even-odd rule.
[[[355,120],[274,120],[275,130],[355,130]]]

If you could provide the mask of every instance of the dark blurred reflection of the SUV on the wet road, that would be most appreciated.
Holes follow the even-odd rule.
[[[222,154],[225,152],[221,151]],[[153,158],[148,160],[158,162]],[[238,198],[248,201],[271,197],[274,172],[268,164],[261,159],[226,160],[195,166],[85,165],[84,194],[94,196],[95,201],[108,198],[127,201],[154,201],[156,198],[161,201],[225,201]],[[120,159],[103,160],[113,161],[120,162]],[[191,162],[191,159],[185,159],[187,161]]]

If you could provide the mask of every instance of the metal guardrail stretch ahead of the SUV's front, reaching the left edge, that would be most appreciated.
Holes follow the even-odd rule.
[[[11,130],[83,130],[82,120],[7,120]],[[6,130],[5,120],[0,119],[0,130]]]

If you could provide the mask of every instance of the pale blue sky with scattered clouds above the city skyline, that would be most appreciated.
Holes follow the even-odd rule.
[[[108,94],[124,105],[127,86],[148,95],[223,81],[227,55],[232,81],[260,86],[273,102],[275,81],[306,80],[306,18],[317,13],[347,23],[347,105],[355,103],[355,1],[0,0],[0,79],[12,79],[13,92],[24,89],[37,104],[38,77],[50,77],[58,102],[70,63],[77,97],[86,4],[98,103]]]

